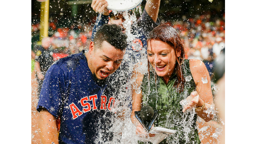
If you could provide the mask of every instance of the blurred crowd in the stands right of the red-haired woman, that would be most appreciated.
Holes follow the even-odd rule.
[[[221,18],[211,18],[210,14],[196,15],[183,21],[166,22],[180,33],[187,59],[202,60],[210,76],[214,60],[225,50],[225,14]]]

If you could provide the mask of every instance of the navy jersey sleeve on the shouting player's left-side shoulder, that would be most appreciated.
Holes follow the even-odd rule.
[[[58,117],[63,110],[65,91],[64,73],[60,66],[52,65],[45,75],[37,111],[45,108],[50,114]]]

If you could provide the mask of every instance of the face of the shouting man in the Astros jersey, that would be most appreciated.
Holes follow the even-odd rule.
[[[95,49],[94,46],[93,42],[91,42],[88,52],[90,53],[88,65],[91,72],[98,79],[105,79],[120,66],[125,50],[116,49],[106,41],[102,43],[101,48]]]

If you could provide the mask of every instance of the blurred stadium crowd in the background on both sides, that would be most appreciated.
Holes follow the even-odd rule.
[[[56,27],[57,21],[49,23],[50,47],[54,61],[70,54],[87,49],[91,40],[93,24],[76,23],[70,27]],[[220,18],[211,18],[210,14],[196,15],[194,18],[182,17],[180,21],[164,21],[172,25],[180,33],[186,58],[202,60],[210,75],[213,73],[214,60],[225,48],[225,14]],[[32,24],[32,50],[36,53],[38,44],[35,42],[40,25]]]

